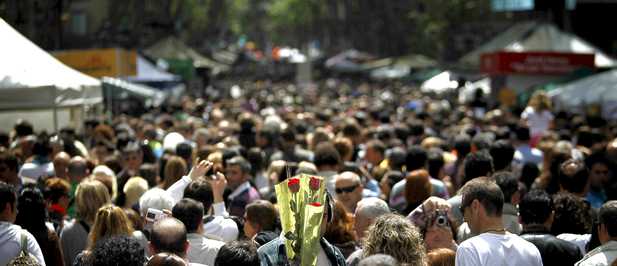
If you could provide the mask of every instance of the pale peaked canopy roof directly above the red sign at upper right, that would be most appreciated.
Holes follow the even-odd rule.
[[[459,62],[477,67],[484,53],[508,52],[564,52],[595,54],[596,67],[617,66],[617,61],[580,37],[559,30],[555,25],[522,22],[495,36],[486,44],[463,56]]]

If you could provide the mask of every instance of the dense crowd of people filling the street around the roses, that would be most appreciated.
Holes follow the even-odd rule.
[[[614,121],[543,93],[241,87],[0,129],[0,265],[294,265],[274,186],[301,173],[326,181],[317,265],[617,265]]]

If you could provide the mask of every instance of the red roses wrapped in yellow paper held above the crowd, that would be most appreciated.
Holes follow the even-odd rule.
[[[324,178],[301,174],[275,186],[287,258],[296,265],[315,265],[325,212]]]

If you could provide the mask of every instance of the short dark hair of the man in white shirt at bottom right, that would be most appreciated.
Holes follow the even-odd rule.
[[[467,182],[462,188],[461,209],[478,200],[486,213],[491,216],[501,216],[503,210],[503,193],[499,186],[488,177],[479,177]]]

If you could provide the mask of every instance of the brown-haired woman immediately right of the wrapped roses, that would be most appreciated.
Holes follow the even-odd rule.
[[[353,221],[340,201],[334,201],[334,219],[328,224],[324,238],[339,248],[345,258],[356,251]]]

